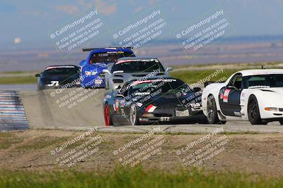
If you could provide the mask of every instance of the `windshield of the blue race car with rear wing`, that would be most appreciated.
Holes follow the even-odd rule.
[[[115,63],[118,58],[123,57],[134,57],[134,54],[126,51],[115,51],[115,52],[105,52],[105,53],[96,53],[91,56],[90,64],[93,63]]]

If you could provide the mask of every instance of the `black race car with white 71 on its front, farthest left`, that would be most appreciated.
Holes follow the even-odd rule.
[[[57,89],[79,87],[79,67],[76,65],[54,65],[45,68],[40,74],[36,74],[37,89]]]

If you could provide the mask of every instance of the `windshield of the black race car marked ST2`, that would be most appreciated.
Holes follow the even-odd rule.
[[[185,82],[178,79],[161,79],[161,80],[149,80],[149,81],[137,81],[137,84],[134,84],[132,87],[129,87],[129,94],[132,95],[144,95],[151,94],[154,92],[160,94],[176,94],[180,92],[186,94],[193,92],[190,87],[185,84]]]

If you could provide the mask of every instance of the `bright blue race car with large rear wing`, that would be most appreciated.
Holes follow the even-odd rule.
[[[88,57],[79,63],[81,86],[85,88],[105,87],[103,70],[117,62],[118,58],[135,56],[131,47],[83,49],[83,51],[91,51]]]

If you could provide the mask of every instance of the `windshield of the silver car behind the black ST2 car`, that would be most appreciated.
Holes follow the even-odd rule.
[[[123,73],[142,73],[142,72],[164,72],[164,68],[157,59],[153,60],[125,60],[115,63],[112,66],[111,73],[121,71]]]

